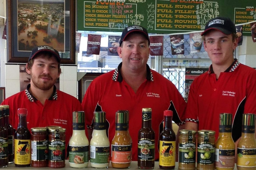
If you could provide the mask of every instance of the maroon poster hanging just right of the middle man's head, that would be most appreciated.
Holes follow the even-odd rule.
[[[163,55],[163,36],[150,36],[150,55],[162,56]]]

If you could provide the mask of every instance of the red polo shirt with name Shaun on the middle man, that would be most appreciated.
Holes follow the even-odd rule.
[[[138,159],[138,131],[142,125],[142,108],[152,108],[152,128],[155,132],[155,159],[159,158],[157,149],[159,131],[162,131],[163,111],[173,111],[173,121],[183,124],[186,102],[173,83],[151,70],[147,65],[147,78],[135,93],[120,74],[118,68],[94,79],[86,90],[82,107],[86,113],[86,124],[93,128],[93,112],[105,111],[108,122],[110,143],[115,135],[115,113],[129,111],[129,133],[132,137],[132,160]]]

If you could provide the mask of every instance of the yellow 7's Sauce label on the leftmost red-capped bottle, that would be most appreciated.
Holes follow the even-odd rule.
[[[31,140],[14,140],[14,161],[19,165],[31,163]]]

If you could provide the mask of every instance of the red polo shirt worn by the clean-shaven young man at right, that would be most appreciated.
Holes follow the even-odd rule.
[[[209,71],[197,77],[190,87],[186,121],[198,129],[214,130],[219,135],[219,114],[233,114],[232,137],[241,137],[242,114],[256,113],[256,70],[237,60],[219,75]]]

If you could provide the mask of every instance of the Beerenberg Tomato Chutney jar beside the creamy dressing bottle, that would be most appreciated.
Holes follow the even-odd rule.
[[[65,167],[65,128],[50,128],[48,135],[48,167]]]

